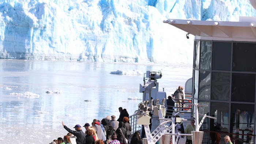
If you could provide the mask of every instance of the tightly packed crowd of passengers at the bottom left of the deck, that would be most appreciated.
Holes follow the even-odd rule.
[[[118,110],[120,116],[117,120],[115,115],[106,116],[102,120],[94,119],[91,124],[84,124],[85,132],[79,124],[74,126],[75,130],[71,130],[62,121],[63,128],[68,131],[67,135],[54,139],[50,144],[128,144],[132,130],[129,114],[122,107]]]

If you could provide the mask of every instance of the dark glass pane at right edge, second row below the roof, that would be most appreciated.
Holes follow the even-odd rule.
[[[255,101],[255,74],[232,73],[231,101]]]

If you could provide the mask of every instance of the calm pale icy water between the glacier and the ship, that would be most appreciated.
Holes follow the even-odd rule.
[[[192,65],[127,64],[106,62],[0,60],[0,142],[48,144],[75,124],[94,118],[119,116],[118,107],[131,115],[142,98],[142,75],[113,75],[112,71],[161,71],[159,91],[172,94],[192,77]],[[46,94],[59,90],[61,94]],[[39,95],[19,96],[31,92]],[[89,102],[84,102],[89,100]],[[84,129],[83,129],[84,131]]]

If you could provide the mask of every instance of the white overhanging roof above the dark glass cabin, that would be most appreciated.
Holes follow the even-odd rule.
[[[195,39],[256,41],[256,17],[240,17],[239,22],[182,19],[168,19],[163,22],[195,35]]]

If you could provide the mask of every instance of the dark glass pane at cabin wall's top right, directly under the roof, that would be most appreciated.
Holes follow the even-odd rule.
[[[256,72],[256,43],[233,43],[233,71]]]

